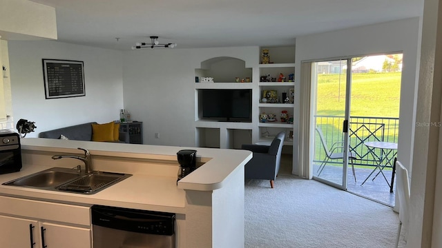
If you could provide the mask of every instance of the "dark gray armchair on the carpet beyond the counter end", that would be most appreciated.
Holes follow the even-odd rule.
[[[244,177],[270,180],[270,187],[273,188],[280,167],[284,139],[285,132],[280,132],[273,138],[271,145],[242,145],[242,149],[253,152],[253,158],[244,167]]]

